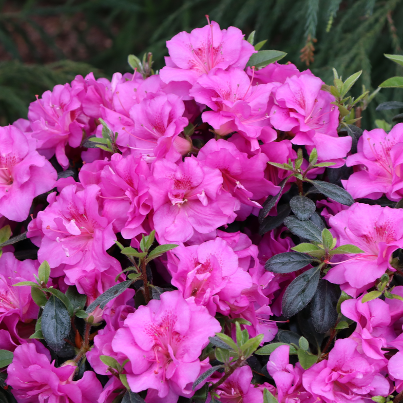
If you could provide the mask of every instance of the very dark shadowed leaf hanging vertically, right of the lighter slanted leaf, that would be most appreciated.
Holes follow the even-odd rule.
[[[337,321],[337,302],[340,289],[327,280],[320,279],[311,302],[312,323],[318,333],[326,333]]]

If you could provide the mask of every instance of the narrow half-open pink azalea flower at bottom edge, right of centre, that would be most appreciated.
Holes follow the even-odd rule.
[[[270,355],[266,368],[276,382],[279,403],[316,401],[315,397],[302,386],[304,370],[301,364],[297,362],[295,367],[290,364],[290,346],[277,347]]]

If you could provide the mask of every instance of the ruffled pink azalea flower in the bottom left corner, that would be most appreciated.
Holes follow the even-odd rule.
[[[92,371],[73,381],[76,367],[56,368],[48,355],[37,352],[34,343],[22,344],[14,351],[7,369],[7,383],[21,403],[94,403],[102,392],[101,382]]]

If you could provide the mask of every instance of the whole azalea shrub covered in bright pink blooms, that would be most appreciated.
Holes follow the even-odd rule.
[[[208,21],[0,128],[0,401],[400,401],[403,123],[262,45]]]

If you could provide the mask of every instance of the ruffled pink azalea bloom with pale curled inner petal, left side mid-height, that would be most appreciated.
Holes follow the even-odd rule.
[[[57,267],[52,276],[66,274],[66,283],[82,294],[84,287],[91,294],[104,292],[103,273],[113,278],[121,271],[119,262],[106,253],[116,236],[112,223],[99,214],[99,193],[98,185],[67,185],[59,196],[48,196],[49,205],[28,226],[27,236],[40,246],[39,261]]]

